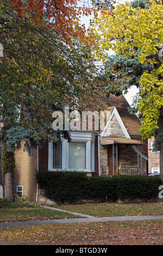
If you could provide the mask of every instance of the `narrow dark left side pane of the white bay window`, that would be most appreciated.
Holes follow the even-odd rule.
[[[62,168],[62,144],[53,143],[53,169]]]

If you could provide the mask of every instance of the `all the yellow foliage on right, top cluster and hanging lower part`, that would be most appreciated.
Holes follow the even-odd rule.
[[[158,46],[163,44],[163,5],[151,0],[148,9],[131,8],[129,3],[119,4],[96,21],[98,25],[98,44],[103,50],[111,48],[120,56],[135,57],[139,51],[139,62],[160,64]],[[155,65],[156,66],[156,65]],[[143,72],[138,83],[141,86],[139,112],[144,117],[142,135],[151,136],[157,126],[160,107],[163,106],[163,64],[151,73]]]

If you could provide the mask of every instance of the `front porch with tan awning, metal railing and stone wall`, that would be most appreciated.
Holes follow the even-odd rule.
[[[100,175],[146,175],[147,157],[142,142],[126,138],[101,138]]]

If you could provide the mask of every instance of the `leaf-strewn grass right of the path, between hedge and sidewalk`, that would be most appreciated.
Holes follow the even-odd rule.
[[[162,215],[163,203],[142,203],[142,204],[78,204],[59,205],[55,208],[79,212],[95,217],[109,216],[130,216],[130,215]]]

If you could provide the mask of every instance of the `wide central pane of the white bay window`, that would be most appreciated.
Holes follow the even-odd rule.
[[[86,168],[86,143],[70,143],[69,144],[69,166],[72,169]]]

